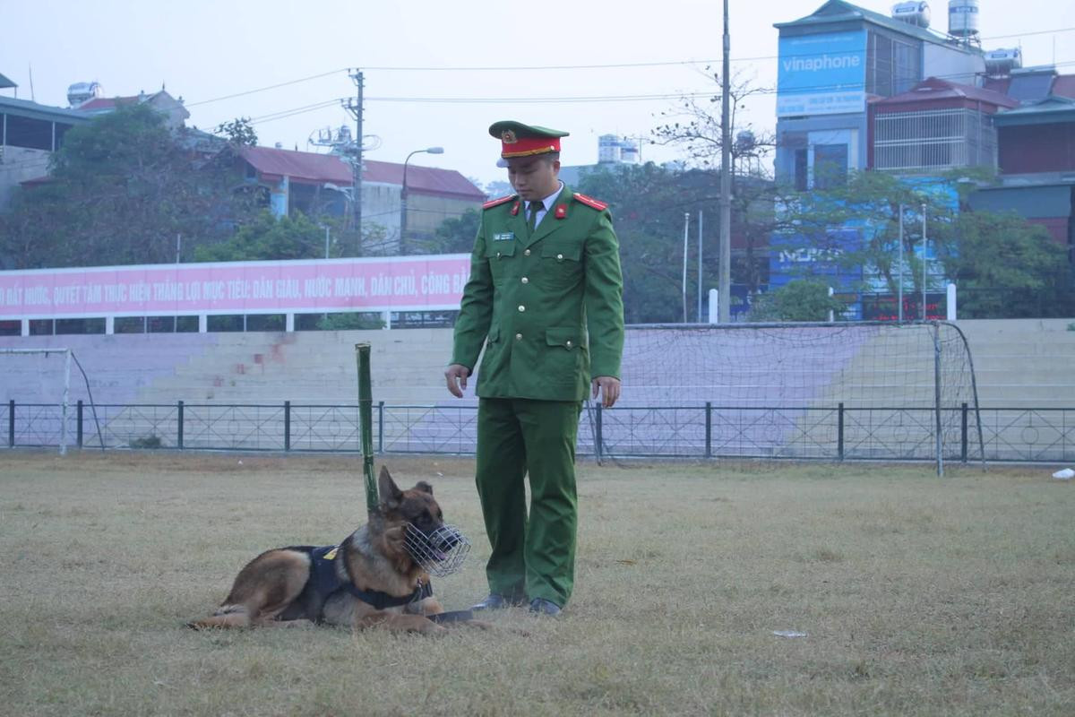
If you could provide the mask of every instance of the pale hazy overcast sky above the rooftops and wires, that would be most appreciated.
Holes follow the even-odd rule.
[[[732,0],[733,72],[775,87],[773,23],[821,4]],[[858,4],[886,14],[891,5]],[[947,2],[932,5],[933,27],[947,28]],[[980,5],[986,48],[1021,45],[1024,66],[1055,60],[1061,72],[1075,73],[1075,2]],[[413,149],[443,146],[443,155],[411,161],[489,182],[505,178],[496,168],[499,144],[487,133],[494,120],[570,131],[563,162],[587,164],[597,161],[598,135],[648,138],[660,113],[674,109],[672,96],[713,92],[704,68],[719,67],[721,12],[718,0],[0,0],[0,73],[18,83],[20,99],[32,95],[58,106],[67,106],[68,86],[76,82],[99,82],[106,97],[166,84],[186,101],[190,125],[212,129],[252,117],[262,145],[324,152],[307,140],[318,129],[354,126],[339,99],[354,97],[347,69],[361,68],[367,145],[379,143],[368,159],[402,162]],[[617,64],[633,67],[608,67]],[[572,69],[505,69],[554,67]],[[250,91],[283,83],[290,84]],[[610,99],[631,96],[647,99]],[[436,99],[467,101],[430,101]],[[748,120],[772,128],[774,106],[773,96],[761,98]],[[682,154],[645,144],[642,156],[664,161]]]

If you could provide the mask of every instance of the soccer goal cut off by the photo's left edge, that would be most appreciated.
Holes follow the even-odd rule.
[[[58,446],[67,455],[71,445],[71,367],[82,373],[87,395],[89,382],[70,348],[0,348],[3,381],[3,433],[8,447]],[[96,408],[94,416],[96,422]],[[100,433],[100,429],[98,429]]]

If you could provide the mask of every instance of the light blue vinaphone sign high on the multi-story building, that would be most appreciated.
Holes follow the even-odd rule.
[[[865,30],[780,38],[777,63],[777,117],[865,112]]]

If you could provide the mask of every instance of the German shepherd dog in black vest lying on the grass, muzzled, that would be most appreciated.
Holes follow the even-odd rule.
[[[400,490],[386,468],[377,479],[381,505],[339,546],[291,546],[262,553],[239,571],[220,607],[195,629],[328,622],[440,633],[427,616],[444,613],[429,573],[412,557],[408,524],[422,535],[444,528],[433,488]],[[463,539],[465,540],[465,539]],[[442,546],[450,550],[452,546]],[[443,555],[443,554],[440,554]],[[328,587],[326,587],[328,586]],[[477,627],[486,627],[473,620]]]

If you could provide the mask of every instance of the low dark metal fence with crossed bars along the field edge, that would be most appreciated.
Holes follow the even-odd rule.
[[[0,446],[58,447],[62,406],[11,401],[0,411]],[[1075,461],[1075,407],[942,408],[947,461]],[[68,412],[80,448],[167,448],[359,453],[358,404],[96,405]],[[472,455],[477,406],[386,405],[373,411],[378,454]],[[936,412],[922,407],[587,406],[578,454],[611,458],[935,459]]]

